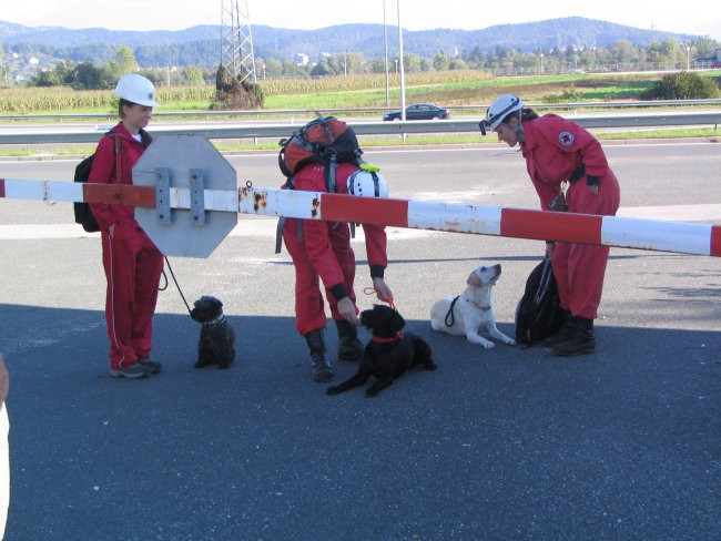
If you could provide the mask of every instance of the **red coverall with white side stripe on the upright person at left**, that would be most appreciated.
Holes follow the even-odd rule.
[[[120,140],[121,183],[132,184],[133,165],[145,147],[133,139],[122,122],[111,131]],[[106,135],[100,140],[88,182],[116,182],[113,137]],[[135,222],[133,206],[98,203],[90,208],[101,229],[108,279],[105,320],[110,366],[122,370],[150,355],[163,254]],[[112,237],[111,225],[115,226]]]

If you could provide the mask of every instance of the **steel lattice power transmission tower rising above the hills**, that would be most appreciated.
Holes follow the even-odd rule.
[[[256,82],[247,0],[221,1],[221,64],[238,81]]]

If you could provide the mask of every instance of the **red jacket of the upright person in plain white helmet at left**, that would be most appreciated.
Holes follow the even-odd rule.
[[[121,184],[132,184],[132,170],[135,162],[145,151],[145,146],[133,139],[122,122],[111,130],[120,141],[120,181]],[[95,159],[88,182],[111,184],[115,178],[114,137],[105,135],[98,143]],[[90,208],[101,229],[105,231],[113,224],[134,225],[135,207],[130,205],[108,205],[92,203]]]

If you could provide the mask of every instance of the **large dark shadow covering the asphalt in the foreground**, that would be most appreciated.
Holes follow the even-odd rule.
[[[439,369],[368,399],[309,380],[288,317],[229,317],[236,365],[199,370],[197,325],[160,314],[163,374],[129,381],[106,376],[100,312],[0,313],[8,540],[719,533],[720,331],[599,326],[598,351],[569,360],[409,320]]]

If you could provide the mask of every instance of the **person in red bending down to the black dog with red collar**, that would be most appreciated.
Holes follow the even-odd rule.
[[[355,164],[338,164],[337,193],[348,194],[348,184],[353,190],[354,180],[359,186],[372,183],[372,177],[375,177],[376,191],[370,196],[387,196],[385,180],[380,177],[382,185],[377,187],[379,175],[366,173]],[[306,165],[298,171],[293,183],[294,190],[326,192],[325,167]],[[363,224],[363,229],[373,287],[380,300],[388,300],[392,292],[384,279],[388,265],[385,226]],[[295,267],[295,327],[305,337],[311,351],[313,379],[331,381],[333,369],[325,346],[327,320],[319,280],[325,286],[325,297],[338,331],[338,359],[359,360],[363,357],[363,345],[357,336],[360,321],[354,290],[356,262],[351,247],[349,225],[346,222],[285,218],[283,241]]]

